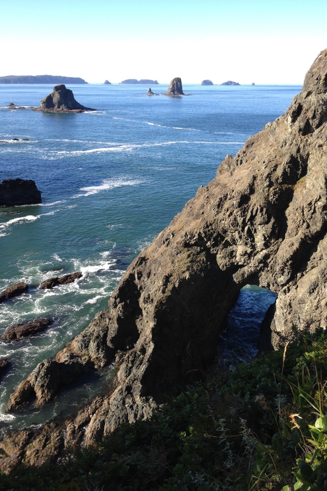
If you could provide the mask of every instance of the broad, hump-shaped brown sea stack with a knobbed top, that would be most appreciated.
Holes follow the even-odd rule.
[[[33,110],[46,112],[96,111],[96,109],[86,108],[85,106],[82,106],[82,104],[78,103],[75,100],[73,91],[67,89],[63,83],[60,85],[55,85],[53,92],[42,99],[41,106]]]

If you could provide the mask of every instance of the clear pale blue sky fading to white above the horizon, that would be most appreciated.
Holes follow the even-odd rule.
[[[2,0],[0,75],[302,83],[327,0]]]

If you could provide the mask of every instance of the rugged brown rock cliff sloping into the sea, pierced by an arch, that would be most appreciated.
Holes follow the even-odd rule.
[[[327,50],[286,113],[227,155],[217,177],[129,266],[109,309],[40,363],[7,408],[30,399],[40,407],[60,385],[115,359],[108,394],[65,422],[5,435],[2,468],[42,462],[70,440],[90,443],[150,416],[163,393],[175,394],[214,360],[225,317],[247,283],[278,294],[262,344],[283,345],[293,326],[326,326],[326,121]]]

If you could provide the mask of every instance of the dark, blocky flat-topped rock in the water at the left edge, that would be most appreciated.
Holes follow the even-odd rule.
[[[41,203],[41,191],[31,179],[4,179],[0,183],[0,206]]]

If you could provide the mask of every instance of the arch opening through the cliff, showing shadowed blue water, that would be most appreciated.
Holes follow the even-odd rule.
[[[217,364],[231,370],[258,353],[260,325],[277,294],[257,285],[245,285],[227,315],[227,327],[218,341]]]

